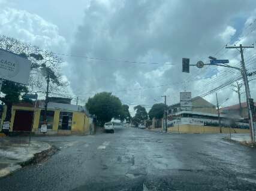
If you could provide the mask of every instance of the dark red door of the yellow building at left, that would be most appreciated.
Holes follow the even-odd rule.
[[[31,131],[33,113],[34,112],[16,110],[13,122],[13,131]]]

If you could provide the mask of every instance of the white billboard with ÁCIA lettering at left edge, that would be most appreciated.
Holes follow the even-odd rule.
[[[31,61],[0,48],[0,78],[28,84]]]

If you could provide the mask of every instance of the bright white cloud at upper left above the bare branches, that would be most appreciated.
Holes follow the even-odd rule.
[[[6,8],[0,13],[0,33],[52,51],[65,51],[67,42],[58,26],[37,14]]]

